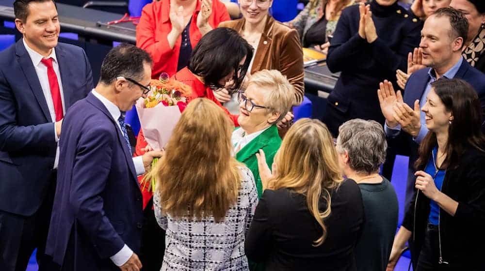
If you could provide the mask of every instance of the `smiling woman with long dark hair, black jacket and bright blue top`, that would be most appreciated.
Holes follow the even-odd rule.
[[[485,138],[477,93],[460,79],[431,84],[428,134],[416,161],[415,200],[392,246],[392,270],[412,237],[416,270],[485,270]]]

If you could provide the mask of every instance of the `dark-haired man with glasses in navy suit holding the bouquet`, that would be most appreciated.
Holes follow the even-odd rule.
[[[161,151],[131,157],[124,113],[146,97],[152,60],[128,44],[103,60],[96,89],[67,113],[46,253],[65,271],[139,270],[137,176]]]

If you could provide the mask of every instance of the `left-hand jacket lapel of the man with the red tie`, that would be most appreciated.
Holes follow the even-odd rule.
[[[22,72],[24,73],[25,78],[29,83],[35,99],[37,100],[37,103],[39,103],[39,106],[42,109],[42,113],[44,113],[44,116],[46,117],[48,122],[52,122],[52,119],[50,118],[49,107],[47,106],[46,97],[44,96],[44,91],[40,86],[39,77],[35,72],[35,68],[32,64],[32,59],[30,58],[27,49],[25,49],[22,39],[20,39],[16,43],[15,51],[18,63],[20,64],[20,68],[22,69]]]

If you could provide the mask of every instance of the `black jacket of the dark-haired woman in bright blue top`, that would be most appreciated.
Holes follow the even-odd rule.
[[[450,270],[485,270],[485,153],[469,148],[456,168],[446,171],[441,191],[458,202],[454,216],[439,211],[441,257]],[[419,256],[428,216],[430,199],[417,193],[406,212],[403,226],[412,231],[413,255]]]

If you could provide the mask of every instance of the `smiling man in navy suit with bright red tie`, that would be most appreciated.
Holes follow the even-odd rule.
[[[23,38],[0,52],[0,270],[25,271],[44,256],[66,110],[93,88],[84,51],[58,43],[52,0],[17,0]]]

